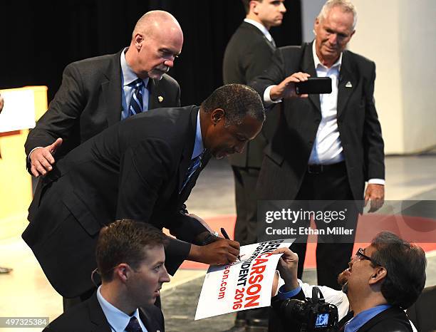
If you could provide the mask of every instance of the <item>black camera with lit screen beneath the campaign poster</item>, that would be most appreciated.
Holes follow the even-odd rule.
[[[301,323],[301,332],[337,331],[338,308],[327,304],[318,287],[313,287],[312,298],[305,301],[297,299],[284,300],[279,308],[285,320]]]

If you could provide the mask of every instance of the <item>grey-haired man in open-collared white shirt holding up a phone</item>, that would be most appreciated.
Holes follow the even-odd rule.
[[[383,204],[384,145],[373,98],[375,64],[345,50],[356,19],[349,1],[327,1],[314,24],[315,40],[279,48],[269,69],[254,79],[264,105],[283,100],[259,175],[259,199],[361,201],[368,181],[365,202],[370,201],[370,211]],[[330,77],[332,93],[294,98],[294,83],[308,76]],[[348,204],[349,224],[357,221],[362,208]],[[321,220],[317,227],[326,224]],[[306,243],[291,248],[299,254],[301,278]],[[318,241],[318,284],[336,288],[336,276],[352,250],[353,238],[334,244]]]

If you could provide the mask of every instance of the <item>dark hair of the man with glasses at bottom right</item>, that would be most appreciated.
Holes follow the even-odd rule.
[[[387,271],[380,288],[383,296],[389,304],[407,309],[425,286],[425,252],[391,232],[380,232],[371,245],[376,249],[371,258]]]

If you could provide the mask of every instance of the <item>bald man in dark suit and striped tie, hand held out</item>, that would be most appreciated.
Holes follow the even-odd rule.
[[[166,73],[182,45],[175,17],[149,11],[137,21],[129,47],[66,66],[61,87],[28,134],[28,172],[45,175],[55,159],[131,115],[180,106],[179,84]]]

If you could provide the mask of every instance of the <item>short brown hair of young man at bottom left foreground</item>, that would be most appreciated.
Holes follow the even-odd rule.
[[[145,222],[120,219],[103,227],[98,235],[95,259],[102,281],[112,281],[113,268],[127,263],[138,269],[145,259],[144,247],[165,246],[167,236]]]

